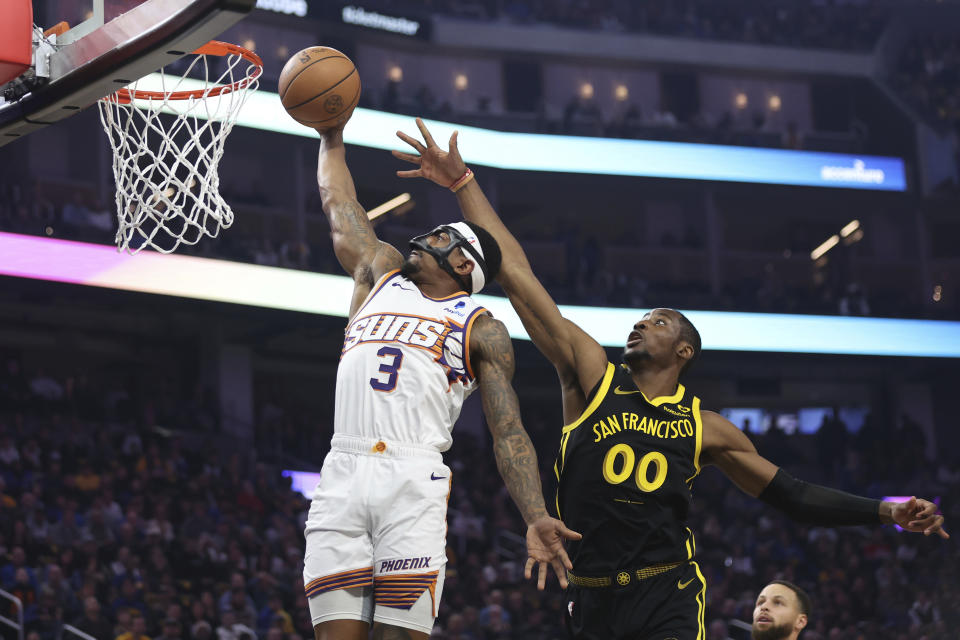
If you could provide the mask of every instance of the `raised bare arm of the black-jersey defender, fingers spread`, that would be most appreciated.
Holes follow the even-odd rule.
[[[472,172],[467,173],[467,166],[457,149],[457,132],[450,136],[449,151],[444,151],[420,118],[417,118],[417,127],[424,143],[397,132],[397,136],[413,147],[417,155],[402,151],[394,151],[393,155],[419,165],[419,168],[398,171],[397,175],[422,177],[442,187],[456,189],[464,218],[489,231],[500,245],[503,264],[497,282],[510,297],[530,338],[554,364],[561,378],[577,379],[586,394],[603,377],[606,369],[607,355],[603,347],[561,315],[553,298],[530,268],[520,243],[500,220],[477,181],[472,179]]]

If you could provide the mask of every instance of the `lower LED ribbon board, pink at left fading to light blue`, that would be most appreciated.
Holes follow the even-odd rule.
[[[229,230],[226,232],[229,233]],[[213,300],[319,315],[347,316],[347,276],[143,252],[112,245],[0,232],[0,275]],[[304,291],[321,292],[303,295]],[[477,300],[511,337],[529,340],[506,298]],[[561,306],[600,344],[622,348],[642,309]],[[704,349],[960,358],[960,322],[721,311],[686,312]]]

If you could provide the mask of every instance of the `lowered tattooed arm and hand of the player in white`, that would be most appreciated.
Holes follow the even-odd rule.
[[[547,514],[540,485],[537,452],[520,420],[520,404],[513,390],[513,344],[507,328],[499,320],[483,315],[476,319],[470,334],[470,360],[477,372],[483,413],[493,436],[493,453],[503,478],[524,522],[527,523],[527,577],[533,564],[540,565],[538,587],[546,584],[546,565],[553,566],[560,585],[566,588],[565,569],[573,565],[563,548],[563,540],[579,539],[580,534]]]

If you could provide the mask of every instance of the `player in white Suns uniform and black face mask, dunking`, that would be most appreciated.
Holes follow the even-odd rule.
[[[499,268],[482,228],[443,225],[404,260],[357,202],[342,130],[321,134],[317,181],[334,251],[353,276],[334,436],[306,524],[304,586],[317,640],[418,638],[433,627],[446,565],[451,472],[441,452],[474,389],[500,475],[528,525],[528,552],[565,583],[537,456],[511,386],[506,328],[473,298]],[[453,186],[453,188],[456,188]]]

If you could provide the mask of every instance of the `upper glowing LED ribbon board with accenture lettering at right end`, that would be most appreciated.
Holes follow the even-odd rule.
[[[151,74],[140,80],[137,87],[159,91],[160,77],[160,74]],[[168,77],[167,85],[170,84]],[[178,88],[189,90],[200,86],[199,81],[186,79]],[[426,123],[440,144],[445,144],[454,129],[459,130],[463,159],[471,164],[498,169],[880,191],[907,189],[904,163],[900,158],[509,133],[435,120]],[[317,137],[315,131],[297,124],[287,115],[277,94],[262,90],[247,98],[237,124],[277,133]],[[413,118],[409,116],[358,108],[347,124],[343,137],[350,144],[375,149],[399,149],[406,145],[397,139],[398,130],[418,133]]]

